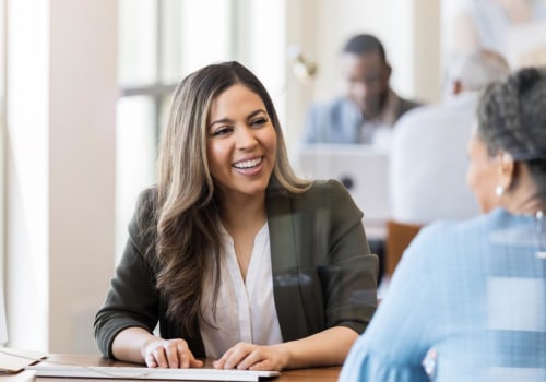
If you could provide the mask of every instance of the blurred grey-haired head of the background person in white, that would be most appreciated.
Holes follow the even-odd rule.
[[[458,82],[461,91],[477,92],[487,84],[510,74],[507,60],[496,51],[478,49],[459,56],[449,70],[449,82]]]

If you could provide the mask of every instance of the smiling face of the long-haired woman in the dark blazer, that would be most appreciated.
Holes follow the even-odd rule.
[[[276,132],[261,97],[236,84],[212,103],[206,155],[225,198],[263,195],[276,157]]]

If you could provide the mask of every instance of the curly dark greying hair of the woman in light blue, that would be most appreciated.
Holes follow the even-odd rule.
[[[477,108],[477,135],[489,155],[506,152],[527,166],[546,200],[546,67],[521,69],[487,86]]]

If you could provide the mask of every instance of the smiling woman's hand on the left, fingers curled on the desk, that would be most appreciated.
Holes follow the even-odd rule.
[[[200,368],[203,361],[195,359],[183,339],[155,339],[144,345],[142,356],[149,368]]]

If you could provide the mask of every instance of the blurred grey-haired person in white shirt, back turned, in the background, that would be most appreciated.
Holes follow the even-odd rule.
[[[418,107],[395,124],[391,140],[392,217],[400,223],[466,219],[479,213],[465,184],[466,144],[479,91],[509,74],[490,50],[458,57],[447,76],[447,98]]]

